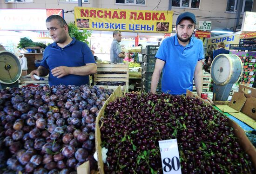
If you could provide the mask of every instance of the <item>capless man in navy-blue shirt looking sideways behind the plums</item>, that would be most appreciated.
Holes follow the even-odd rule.
[[[53,44],[46,47],[43,60],[37,70],[31,72],[37,76],[49,74],[49,85],[88,84],[89,74],[97,72],[94,56],[84,42],[71,38],[66,21],[59,15],[46,19],[46,26]]]

